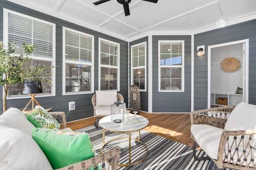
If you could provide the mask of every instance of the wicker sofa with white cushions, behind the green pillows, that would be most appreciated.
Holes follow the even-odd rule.
[[[66,127],[64,112],[50,112]],[[10,108],[0,115],[0,169],[1,170],[52,170],[44,152],[32,138],[35,127],[26,116],[16,108]],[[70,128],[64,130],[72,131]],[[120,149],[113,149],[94,158],[78,162],[64,169],[80,169],[94,166],[114,158],[112,168],[117,169]]]

